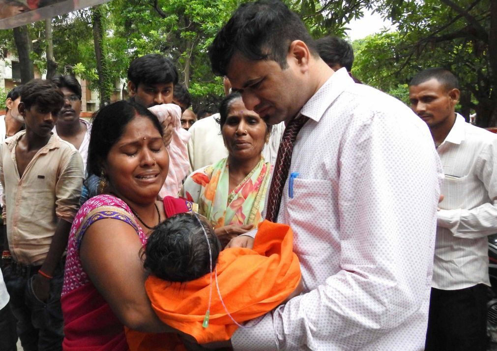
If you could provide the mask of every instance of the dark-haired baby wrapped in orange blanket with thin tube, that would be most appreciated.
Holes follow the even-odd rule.
[[[165,324],[199,344],[229,340],[244,327],[241,323],[302,291],[292,242],[289,226],[264,221],[253,248],[222,250],[205,217],[171,216],[154,228],[142,251],[144,267],[151,273],[145,289],[152,308]],[[162,336],[127,332],[131,351],[171,345],[167,334]]]

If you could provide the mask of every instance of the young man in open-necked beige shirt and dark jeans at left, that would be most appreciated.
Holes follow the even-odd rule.
[[[3,276],[24,350],[62,350],[63,255],[83,182],[80,154],[52,133],[63,105],[52,82],[28,82],[18,106],[26,130],[0,146],[3,229],[12,258]]]

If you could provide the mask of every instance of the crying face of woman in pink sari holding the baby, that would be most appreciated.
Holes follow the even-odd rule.
[[[169,155],[161,134],[142,116],[128,123],[104,165],[112,191],[124,201],[138,204],[157,198],[168,170]]]

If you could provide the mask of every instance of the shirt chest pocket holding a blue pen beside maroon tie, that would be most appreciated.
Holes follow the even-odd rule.
[[[300,255],[322,256],[329,252],[336,227],[332,218],[331,182],[323,179],[293,180],[293,197],[287,198],[289,224],[294,235],[294,251]]]

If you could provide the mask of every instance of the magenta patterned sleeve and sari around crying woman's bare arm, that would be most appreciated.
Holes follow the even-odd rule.
[[[85,230],[95,221],[114,218],[129,223],[137,231],[142,244],[147,237],[128,205],[113,195],[94,196],[84,203],[76,215],[67,250],[62,312],[64,314],[63,349],[67,351],[127,351],[124,326],[111,311],[83,270],[79,257]],[[109,238],[109,242],[112,238]]]

